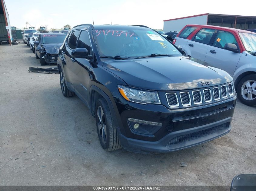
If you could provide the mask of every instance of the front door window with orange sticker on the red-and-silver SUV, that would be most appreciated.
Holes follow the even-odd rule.
[[[218,33],[214,39],[213,46],[217,46],[219,48],[224,48],[226,43],[235,44],[238,48],[237,41],[233,34],[231,34],[229,32],[225,32],[225,31],[221,31],[221,30],[218,31]]]

